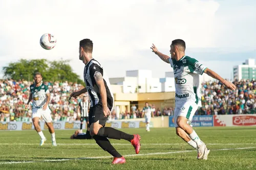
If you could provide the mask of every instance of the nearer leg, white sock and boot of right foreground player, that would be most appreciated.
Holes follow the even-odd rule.
[[[208,150],[206,148],[205,143],[201,141],[201,139],[198,137],[197,133],[193,130],[193,128],[187,124],[187,118],[184,116],[178,116],[177,125],[189,135],[190,139],[197,143],[197,158],[202,159],[203,156],[208,153]]]

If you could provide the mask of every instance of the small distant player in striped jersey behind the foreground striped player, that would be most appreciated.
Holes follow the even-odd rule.
[[[81,124],[80,124],[80,131],[79,132],[82,133],[83,121],[86,120],[86,123],[87,123],[86,134],[89,138],[91,138],[90,131],[89,131],[89,108],[90,108],[90,102],[89,102],[89,99],[88,99],[88,94],[86,93],[83,96],[82,101],[79,103],[78,109],[77,109],[77,112],[80,113],[80,115],[81,115],[80,116]]]

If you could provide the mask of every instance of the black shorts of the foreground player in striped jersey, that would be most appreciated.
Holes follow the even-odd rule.
[[[110,108],[111,110],[111,108]],[[108,120],[109,117],[104,117],[103,108],[101,105],[97,104],[90,108],[89,111],[89,126],[91,126],[93,123],[97,122],[99,120],[99,124],[103,127],[105,126],[106,120]]]

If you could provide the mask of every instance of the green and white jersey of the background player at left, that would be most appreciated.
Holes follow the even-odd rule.
[[[30,85],[30,92],[32,93],[33,108],[40,108],[44,106],[47,101],[46,94],[50,93],[48,86],[42,83],[38,87],[36,87],[35,84]]]

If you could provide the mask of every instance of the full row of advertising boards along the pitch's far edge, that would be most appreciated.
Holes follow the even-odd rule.
[[[45,122],[39,123],[42,130],[47,130]],[[194,127],[218,127],[218,126],[256,126],[256,114],[231,114],[231,115],[195,115],[192,119]],[[145,128],[144,118],[122,119],[106,122],[106,127],[120,128]],[[53,122],[56,130],[79,129],[80,121],[73,122]],[[150,127],[174,127],[174,116],[156,117],[151,119]],[[83,129],[86,129],[86,123]],[[34,125],[32,122],[0,122],[0,130],[32,130]]]

